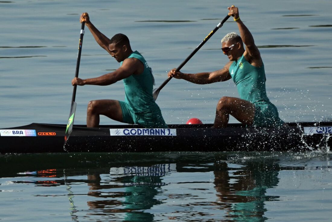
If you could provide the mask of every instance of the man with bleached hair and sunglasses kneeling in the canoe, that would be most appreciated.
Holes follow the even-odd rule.
[[[196,84],[208,84],[226,81],[233,78],[239,98],[222,97],[216,108],[214,128],[227,126],[229,115],[249,126],[275,127],[286,125],[279,118],[278,110],[266,95],[264,64],[254,39],[239,17],[237,7],[228,7],[240,31],[228,33],[222,40],[222,51],[228,62],[222,69],[213,72],[196,74],[175,72],[172,69],[168,76],[185,79]],[[244,49],[243,43],[246,48]]]

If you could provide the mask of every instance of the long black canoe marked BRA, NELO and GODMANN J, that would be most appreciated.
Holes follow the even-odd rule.
[[[282,128],[246,128],[229,124],[177,124],[169,129],[138,125],[74,125],[64,146],[66,125],[32,123],[0,129],[0,153],[299,151],[329,149],[332,122],[288,123]]]

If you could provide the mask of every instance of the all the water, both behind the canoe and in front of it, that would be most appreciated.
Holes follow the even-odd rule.
[[[331,120],[329,1],[17,0],[0,1],[0,128],[67,123],[82,12],[108,37],[126,34],[160,85],[232,4],[260,49],[267,93],[281,118]],[[223,67],[220,39],[233,31],[230,19],[182,71]],[[118,67],[86,29],[79,77]],[[172,79],[157,103],[169,124],[193,117],[212,123],[222,96],[238,97],[232,80]],[[78,87],[75,124],[85,124],[94,99],[123,100],[122,82]],[[330,221],[329,149],[1,155],[0,221]]]

